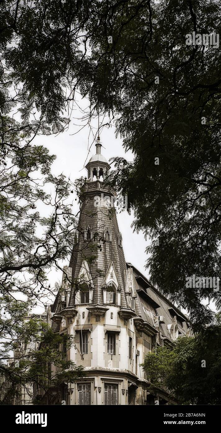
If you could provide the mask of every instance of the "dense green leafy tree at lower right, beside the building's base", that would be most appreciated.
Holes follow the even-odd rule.
[[[221,325],[158,347],[142,364],[152,388],[167,388],[181,404],[220,404]]]

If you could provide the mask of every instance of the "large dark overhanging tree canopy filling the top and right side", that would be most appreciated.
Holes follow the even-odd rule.
[[[196,327],[210,323],[201,299],[219,308],[219,291],[185,283],[221,270],[220,50],[186,45],[186,35],[220,33],[220,4],[41,0],[0,7],[5,65],[22,83],[29,110],[56,128],[78,90],[89,99],[89,123],[98,105],[109,116],[103,124],[114,121],[134,162],[115,158],[110,183],[127,194],[134,229],[153,240],[152,282],[190,311]]]

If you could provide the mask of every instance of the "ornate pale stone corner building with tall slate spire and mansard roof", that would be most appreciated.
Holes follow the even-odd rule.
[[[86,168],[76,244],[47,317],[54,332],[74,336],[67,359],[84,366],[85,378],[64,384],[45,403],[170,404],[166,391],[150,391],[140,364],[157,346],[173,347],[178,336],[190,335],[188,318],[125,261],[99,139]]]

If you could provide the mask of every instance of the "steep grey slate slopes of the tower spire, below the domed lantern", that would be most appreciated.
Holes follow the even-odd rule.
[[[115,208],[112,207],[110,213],[105,204],[95,207],[96,196],[101,196],[102,192],[104,193],[104,196],[111,196],[111,193],[108,193],[105,188],[102,188],[101,183],[100,187],[102,189],[97,189],[97,182],[90,182],[88,186],[90,189],[85,195],[79,217],[79,239],[78,243],[73,247],[73,253],[69,264],[73,269],[72,277],[73,279],[79,277],[79,271],[83,260],[92,255],[92,250],[90,249],[88,242],[85,242],[83,236],[85,230],[87,230],[89,226],[92,230],[92,236],[94,236],[95,233],[99,233],[99,235],[103,237],[108,228],[111,233],[111,242],[106,241],[103,243],[102,240],[99,242],[93,241],[94,245],[101,245],[101,251],[98,249],[98,256],[95,262],[88,262],[88,267],[94,284],[92,304],[103,304],[102,284],[104,275],[106,274],[110,263],[113,262],[117,273],[117,279],[121,287],[121,305],[122,307],[127,307],[124,292],[124,271],[126,270],[126,261],[124,258],[123,248],[118,245],[119,228],[116,211]],[[103,273],[102,275],[99,275],[98,269],[99,272],[101,271]],[[69,306],[73,306],[74,302],[74,295],[72,294],[70,296]]]

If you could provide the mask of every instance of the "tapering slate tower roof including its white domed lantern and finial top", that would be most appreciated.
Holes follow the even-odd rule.
[[[106,158],[100,153],[98,142],[97,153],[88,161],[88,181],[82,195],[81,211],[78,226],[78,242],[73,248],[69,267],[72,278],[77,280],[85,268],[89,285],[92,287],[92,304],[103,304],[103,288],[107,284],[108,272],[114,276],[113,282],[120,291],[120,306],[127,308],[124,291],[124,274],[127,266],[122,248],[122,237],[119,231],[116,209],[114,207],[114,191],[103,182],[103,176],[93,180],[94,166],[97,172],[110,168]],[[97,165],[95,165],[95,163]],[[102,179],[102,180],[101,180]],[[93,259],[93,256],[96,258]],[[86,262],[86,264],[85,264]],[[75,304],[75,294],[69,299],[69,306]]]

